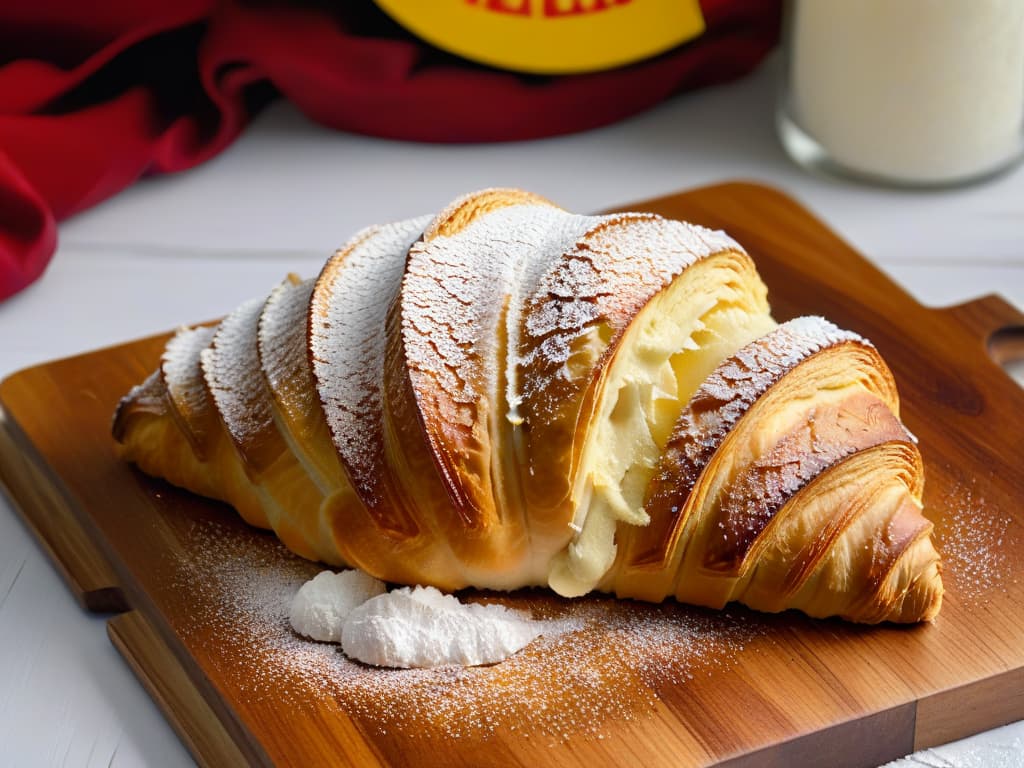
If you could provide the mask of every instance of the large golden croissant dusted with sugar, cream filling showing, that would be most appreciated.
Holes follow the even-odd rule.
[[[876,348],[776,323],[723,232],[487,189],[179,330],[113,431],[388,582],[919,622],[941,563],[898,411]]]

